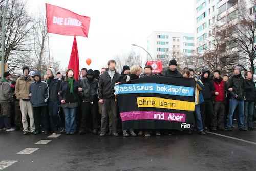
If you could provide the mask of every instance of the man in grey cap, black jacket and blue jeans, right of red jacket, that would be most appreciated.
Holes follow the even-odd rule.
[[[227,88],[231,96],[229,100],[227,130],[232,131],[233,114],[238,106],[239,130],[246,131],[244,124],[244,78],[240,67],[234,69],[234,75],[228,79]]]

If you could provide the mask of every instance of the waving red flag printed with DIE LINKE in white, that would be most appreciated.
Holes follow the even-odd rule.
[[[78,15],[65,8],[46,4],[48,33],[88,37],[90,17]]]

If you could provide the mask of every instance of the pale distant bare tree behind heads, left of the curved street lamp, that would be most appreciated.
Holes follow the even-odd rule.
[[[115,56],[116,61],[116,70],[121,72],[124,65],[132,67],[133,65],[141,65],[142,57],[140,54],[136,54],[134,51],[130,51],[125,55],[117,55]]]

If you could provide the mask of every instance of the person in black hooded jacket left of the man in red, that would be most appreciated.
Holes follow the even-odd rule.
[[[204,85],[204,89],[202,90],[204,102],[200,104],[200,109],[203,127],[207,130],[211,127],[210,122],[214,115],[212,101],[215,94],[214,83],[210,80],[210,71],[208,69],[202,70],[201,81]]]

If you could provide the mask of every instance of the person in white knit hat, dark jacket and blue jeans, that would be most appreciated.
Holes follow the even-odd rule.
[[[61,79],[56,78],[55,70],[53,68],[47,69],[48,79],[46,81],[49,87],[49,100],[48,100],[48,109],[50,115],[50,126],[53,134],[58,133],[58,127],[60,132],[64,131],[64,124],[58,118],[59,111],[59,97],[58,91],[61,83]],[[45,130],[45,134],[48,134],[49,130]]]

